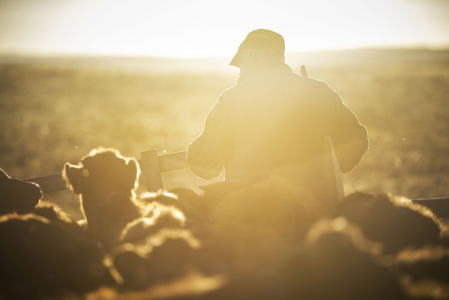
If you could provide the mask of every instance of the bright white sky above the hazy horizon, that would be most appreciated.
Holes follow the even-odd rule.
[[[286,51],[449,45],[449,0],[0,0],[0,52],[232,55],[257,28]]]

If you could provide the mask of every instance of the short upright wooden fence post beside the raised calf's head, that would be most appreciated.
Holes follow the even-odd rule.
[[[164,189],[161,165],[159,164],[158,150],[151,149],[140,152],[140,168],[145,178],[148,192],[157,192]]]

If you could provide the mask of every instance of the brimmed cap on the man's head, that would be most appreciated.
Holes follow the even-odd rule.
[[[243,49],[271,49],[284,54],[285,42],[282,35],[268,29],[256,29],[248,33],[238,47],[229,65],[240,67],[241,50]]]

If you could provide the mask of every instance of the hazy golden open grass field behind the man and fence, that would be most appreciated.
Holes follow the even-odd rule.
[[[59,173],[97,146],[134,157],[151,148],[185,150],[220,92],[237,79],[237,72],[30,61],[0,63],[0,168],[18,179]],[[299,64],[291,66],[299,72]],[[370,149],[344,175],[347,193],[449,196],[449,57],[307,66],[368,128]],[[189,170],[164,180],[167,188],[208,183]],[[56,194],[46,197],[79,216],[70,192]]]

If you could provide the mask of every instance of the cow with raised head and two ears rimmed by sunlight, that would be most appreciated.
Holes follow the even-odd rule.
[[[87,231],[106,248],[119,241],[123,228],[141,216],[134,190],[140,174],[135,159],[113,149],[97,148],[77,165],[66,163],[63,176],[80,194]]]

